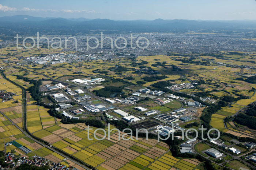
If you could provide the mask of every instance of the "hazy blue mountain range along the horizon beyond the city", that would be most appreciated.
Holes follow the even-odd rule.
[[[58,31],[60,34],[76,33],[130,33],[130,32],[188,32],[237,31],[255,29],[256,21],[202,21],[202,20],[109,20],[86,18],[50,18],[16,15],[0,17],[0,31],[6,28],[16,32]],[[2,28],[2,29],[1,29]],[[98,31],[98,32],[97,32]],[[9,33],[10,34],[10,33]]]

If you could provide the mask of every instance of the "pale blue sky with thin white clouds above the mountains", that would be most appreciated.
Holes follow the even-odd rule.
[[[0,0],[0,17],[256,20],[256,0]]]

